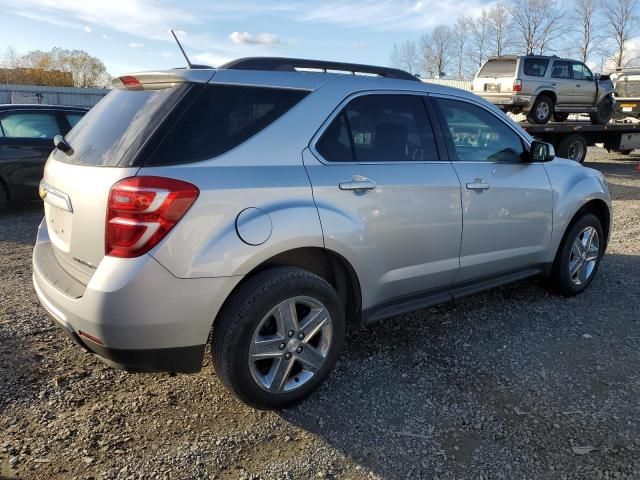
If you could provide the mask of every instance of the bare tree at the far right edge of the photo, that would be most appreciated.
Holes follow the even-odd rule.
[[[615,42],[612,56],[615,67],[624,65],[629,40],[637,32],[636,0],[602,0],[605,30]]]

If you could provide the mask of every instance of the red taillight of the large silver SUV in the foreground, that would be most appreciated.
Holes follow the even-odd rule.
[[[131,258],[148,252],[180,221],[200,191],[164,177],[130,177],[109,192],[105,254]]]

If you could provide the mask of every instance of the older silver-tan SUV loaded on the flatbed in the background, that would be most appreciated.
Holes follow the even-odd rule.
[[[588,113],[603,124],[613,114],[613,85],[609,76],[593,74],[576,60],[546,56],[491,57],[478,70],[472,90],[512,113],[544,124],[564,122],[571,113]]]

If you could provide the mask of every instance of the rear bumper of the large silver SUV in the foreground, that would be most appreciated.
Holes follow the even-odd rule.
[[[77,344],[128,371],[200,370],[213,320],[239,277],[180,279],[149,255],[105,257],[84,286],[55,261],[52,248],[41,224],[33,284]]]

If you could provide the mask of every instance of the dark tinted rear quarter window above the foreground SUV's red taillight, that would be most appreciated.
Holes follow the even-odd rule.
[[[151,155],[150,163],[187,163],[220,155],[267,127],[307,93],[209,85],[177,120]]]

